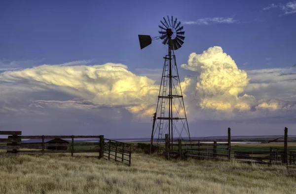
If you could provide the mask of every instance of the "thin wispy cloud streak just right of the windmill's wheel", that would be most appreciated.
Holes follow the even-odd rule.
[[[211,25],[211,24],[233,24],[236,23],[232,17],[213,17],[213,18],[201,18],[195,21],[183,21],[182,23],[185,25]]]

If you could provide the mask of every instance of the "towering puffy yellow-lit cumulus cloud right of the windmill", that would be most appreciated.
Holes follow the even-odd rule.
[[[181,67],[200,73],[196,79],[195,89],[202,109],[221,111],[234,108],[242,111],[251,109],[246,103],[240,102],[241,106],[237,104],[240,101],[238,94],[242,93],[249,83],[247,73],[239,70],[234,60],[224,53],[220,46],[211,47],[202,54],[191,53],[188,64],[183,64]]]

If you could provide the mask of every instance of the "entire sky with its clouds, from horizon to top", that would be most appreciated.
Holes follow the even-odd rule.
[[[293,0],[2,0],[0,130],[149,137],[167,15],[191,136],[296,135]]]

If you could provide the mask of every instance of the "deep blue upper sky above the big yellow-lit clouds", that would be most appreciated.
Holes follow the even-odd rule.
[[[290,67],[295,63],[295,14],[281,15],[279,8],[263,10],[287,2],[5,0],[0,4],[0,59],[42,60],[39,64],[128,61],[131,70],[157,68],[162,64],[159,53],[166,47],[155,41],[140,50],[137,35],[158,36],[160,19],[173,14],[184,21],[214,17],[234,21],[186,25],[185,44],[177,52],[179,63],[185,63],[191,52],[220,45],[246,69]]]

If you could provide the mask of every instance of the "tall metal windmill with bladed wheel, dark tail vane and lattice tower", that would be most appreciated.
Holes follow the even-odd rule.
[[[162,39],[168,46],[168,54],[163,57],[164,65],[159,88],[156,112],[153,114],[153,125],[150,144],[157,137],[157,144],[165,142],[165,134],[169,134],[169,142],[174,139],[183,139],[184,135],[190,139],[190,133],[185,112],[185,105],[176,64],[175,50],[184,43],[183,26],[177,18],[167,16],[160,21],[158,33],[160,36],[151,38],[148,35],[139,35],[140,47],[145,48],[152,40]],[[156,135],[156,137],[155,137]],[[155,137],[155,138],[154,138]],[[172,145],[171,144],[171,145]],[[150,148],[151,148],[150,147]]]

